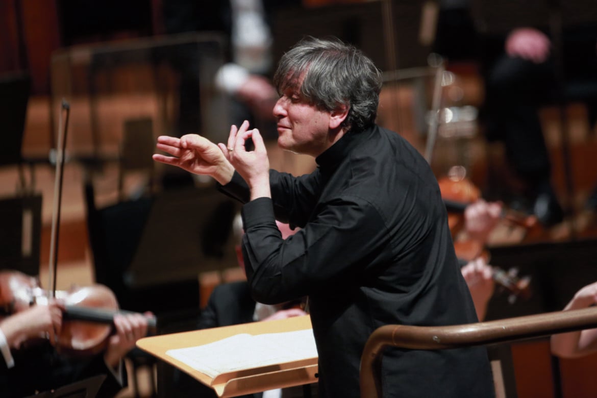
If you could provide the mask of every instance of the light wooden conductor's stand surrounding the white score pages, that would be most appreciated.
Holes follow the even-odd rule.
[[[176,366],[196,378],[196,380],[213,388],[217,396],[225,398],[316,382],[318,358],[309,357],[276,365],[256,366],[210,377],[196,371],[186,363],[174,359],[174,357],[167,354],[167,351],[214,343],[239,334],[261,335],[302,331],[311,328],[309,316],[304,315],[267,322],[242,323],[241,325],[223,326],[221,328],[146,337],[137,341],[137,347]],[[230,358],[230,363],[234,363],[234,361],[234,358]]]

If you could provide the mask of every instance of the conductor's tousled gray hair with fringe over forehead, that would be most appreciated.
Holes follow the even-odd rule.
[[[375,122],[381,72],[361,50],[337,38],[311,36],[282,55],[273,83],[281,94],[304,76],[300,94],[320,110],[331,112],[345,105],[347,130],[361,131]]]

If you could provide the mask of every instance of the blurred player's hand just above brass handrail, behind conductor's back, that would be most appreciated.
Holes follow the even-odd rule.
[[[496,283],[493,279],[493,270],[479,257],[469,261],[466,266],[460,269],[466,285],[469,286],[470,295],[479,320],[484,319],[487,311],[487,303],[493,295]]]

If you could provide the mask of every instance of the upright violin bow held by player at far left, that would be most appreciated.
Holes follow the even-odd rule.
[[[64,117],[63,123],[63,114]],[[66,132],[69,124],[70,104],[62,100],[58,122],[58,142],[56,145],[56,175],[54,178],[54,206],[52,209],[52,232],[50,237],[50,263],[48,276],[51,286],[51,297],[56,297],[56,271],[58,267],[58,237],[60,232],[60,203],[62,202],[62,183],[64,175],[64,150],[66,149]],[[51,156],[50,156],[51,158]],[[50,159],[51,160],[51,159]]]

